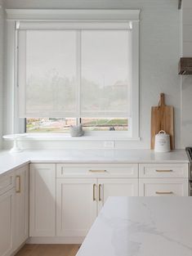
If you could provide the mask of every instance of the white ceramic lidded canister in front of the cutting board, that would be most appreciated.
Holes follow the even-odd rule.
[[[169,152],[170,150],[170,135],[162,130],[155,135],[154,151],[163,153]]]

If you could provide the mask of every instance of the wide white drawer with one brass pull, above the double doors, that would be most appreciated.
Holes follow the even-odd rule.
[[[138,177],[138,164],[56,164],[56,177]]]

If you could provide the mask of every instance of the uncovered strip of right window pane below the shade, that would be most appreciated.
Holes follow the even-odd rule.
[[[127,131],[128,119],[81,119],[85,131]]]

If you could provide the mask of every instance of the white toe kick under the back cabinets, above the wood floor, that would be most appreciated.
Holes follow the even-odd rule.
[[[35,236],[29,237],[27,244],[82,244],[85,237],[83,236],[73,236],[73,237],[60,237],[60,236]]]

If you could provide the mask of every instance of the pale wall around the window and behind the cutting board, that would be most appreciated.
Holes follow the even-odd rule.
[[[141,9],[141,141],[117,141],[116,147],[150,148],[150,107],[158,105],[160,92],[166,94],[167,105],[175,107],[176,147],[181,147],[181,79],[177,75],[181,56],[181,11],[178,11],[178,0],[7,0],[6,7]],[[75,144],[78,145],[100,147],[102,143]],[[72,146],[72,143],[65,142],[64,146]]]

